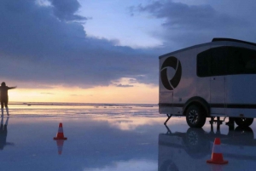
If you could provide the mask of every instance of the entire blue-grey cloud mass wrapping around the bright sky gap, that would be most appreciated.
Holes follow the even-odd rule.
[[[124,85],[158,85],[160,54],[207,43],[212,37],[256,42],[252,36],[256,23],[249,17],[256,12],[247,11],[255,7],[253,1],[244,6],[235,2],[232,7],[227,6],[231,1],[201,5],[150,2],[132,6],[131,14],[149,14],[142,22],[162,20],[162,29],[152,35],[164,45],[133,49],[116,46],[119,40],[87,37],[82,24],[88,18],[78,14],[78,0],[2,0],[1,78],[19,88],[92,88],[108,86],[122,77],[131,78]]]

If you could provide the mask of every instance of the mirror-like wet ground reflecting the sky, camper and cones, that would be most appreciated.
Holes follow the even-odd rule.
[[[189,128],[184,117],[157,106],[13,107],[1,118],[1,170],[255,170],[256,140],[250,128],[209,124]],[[63,123],[67,140],[53,140]],[[215,138],[224,166],[208,164]]]

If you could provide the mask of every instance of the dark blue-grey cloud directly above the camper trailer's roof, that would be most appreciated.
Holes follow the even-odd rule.
[[[233,1],[229,2],[232,3]],[[157,1],[130,9],[131,14],[148,13],[157,19],[164,20],[162,27],[166,31],[156,33],[154,36],[165,40],[165,46],[169,50],[170,47],[175,50],[197,43],[207,43],[213,37],[231,37],[256,42],[256,39],[252,37],[256,33],[255,21],[252,18],[229,13],[227,12],[229,7],[223,7],[225,8],[219,11],[214,9],[212,5],[188,5],[172,1]],[[241,13],[241,11],[236,11],[236,13]]]

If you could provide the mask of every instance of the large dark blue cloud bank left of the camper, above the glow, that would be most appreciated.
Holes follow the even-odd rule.
[[[90,88],[106,86],[121,77],[157,84],[159,54],[86,37],[77,22],[85,20],[76,14],[78,1],[50,3],[1,1],[2,80],[12,80],[19,88],[56,84]]]

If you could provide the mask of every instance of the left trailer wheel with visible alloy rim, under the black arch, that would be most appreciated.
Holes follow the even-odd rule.
[[[201,107],[190,105],[186,110],[186,120],[191,128],[202,128],[206,123],[207,117]]]

